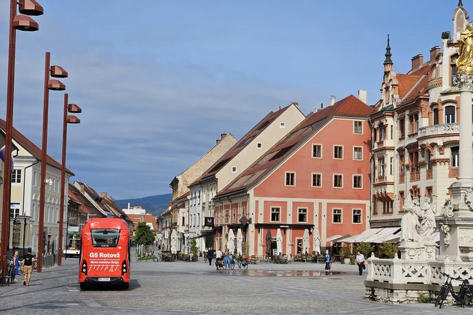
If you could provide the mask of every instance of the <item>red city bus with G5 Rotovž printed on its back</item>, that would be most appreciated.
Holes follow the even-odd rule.
[[[87,284],[112,283],[124,288],[130,283],[130,231],[115,218],[94,218],[81,232],[79,260],[80,289]]]

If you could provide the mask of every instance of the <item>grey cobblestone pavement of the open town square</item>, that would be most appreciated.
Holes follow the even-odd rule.
[[[0,287],[0,312],[9,314],[473,314],[473,309],[432,304],[388,305],[364,301],[364,276],[353,265],[250,265],[217,271],[195,263],[133,263],[129,290],[88,290],[77,283],[78,259]]]

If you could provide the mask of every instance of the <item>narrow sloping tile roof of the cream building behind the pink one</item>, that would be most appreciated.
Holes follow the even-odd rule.
[[[292,105],[292,104],[291,104]],[[200,180],[203,180],[206,177],[210,177],[212,175],[215,175],[218,173],[223,166],[225,166],[232,158],[234,158],[235,155],[240,153],[241,150],[245,149],[250,142],[254,138],[256,138],[257,135],[262,133],[266,127],[268,127],[274,120],[276,120],[279,116],[281,116],[282,113],[284,113],[291,105],[287,105],[286,107],[283,107],[282,109],[279,109],[278,111],[271,111],[268,113],[265,118],[263,118],[256,126],[254,126],[248,133],[246,133],[239,142],[236,142],[234,146],[230,150],[227,151],[217,162],[215,162],[210,168],[204,172],[197,180],[195,180],[190,186],[193,184],[197,184]]]

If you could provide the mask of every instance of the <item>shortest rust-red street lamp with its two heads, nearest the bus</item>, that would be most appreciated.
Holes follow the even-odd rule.
[[[80,119],[67,113],[82,113],[82,109],[76,104],[69,104],[69,94],[64,94],[64,115],[63,115],[63,160],[61,162],[61,205],[59,213],[59,243],[58,243],[58,265],[62,265],[63,258],[63,224],[64,224],[64,195],[66,177],[66,144],[67,144],[67,124],[79,124]],[[67,228],[69,228],[69,217],[67,217]],[[66,231],[67,235],[67,231]],[[67,237],[66,237],[67,239]],[[67,247],[67,245],[66,245]]]

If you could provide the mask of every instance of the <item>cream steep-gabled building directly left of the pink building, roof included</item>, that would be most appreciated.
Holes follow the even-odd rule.
[[[199,251],[214,248],[212,198],[304,118],[295,102],[271,111],[189,186],[189,236],[197,239]]]

